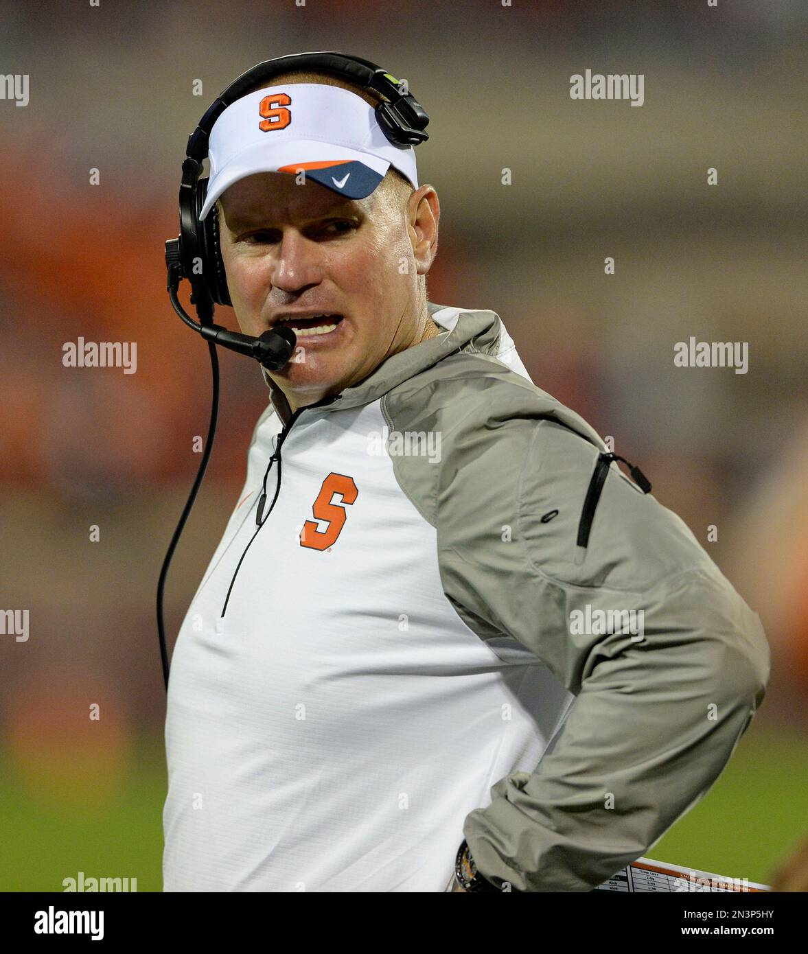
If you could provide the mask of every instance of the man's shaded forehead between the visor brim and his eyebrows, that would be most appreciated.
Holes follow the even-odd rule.
[[[366,211],[372,196],[346,199],[311,179],[299,183],[288,173],[261,173],[235,182],[219,201],[228,223],[250,224],[286,215],[302,219],[356,215]]]

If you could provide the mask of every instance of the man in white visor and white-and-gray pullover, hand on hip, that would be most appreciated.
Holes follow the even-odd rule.
[[[238,324],[298,347],[176,643],[164,886],[588,891],[715,781],[768,647],[499,317],[427,301],[438,197],[373,102],[278,76],[211,135]]]

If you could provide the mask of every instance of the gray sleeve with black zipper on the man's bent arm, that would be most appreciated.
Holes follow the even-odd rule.
[[[765,694],[766,637],[684,522],[616,464],[577,545],[598,448],[568,427],[481,409],[451,438],[435,501],[445,593],[576,696],[554,748],[493,785],[466,840],[499,887],[589,891],[715,782]]]

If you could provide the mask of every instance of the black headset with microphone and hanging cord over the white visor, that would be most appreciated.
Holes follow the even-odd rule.
[[[221,259],[216,205],[204,221],[199,213],[208,191],[208,178],[201,177],[202,162],[208,155],[211,130],[220,114],[240,96],[249,93],[255,86],[290,71],[316,71],[331,73],[349,80],[363,89],[375,90],[387,98],[376,106],[376,119],[387,139],[400,149],[417,146],[428,139],[425,133],[429,116],[418,100],[409,93],[403,80],[396,79],[382,67],[361,56],[338,52],[293,53],[266,60],[241,73],[227,89],[220,93],[216,102],[199,120],[197,128],[188,137],[185,159],[182,162],[182,180],[179,185],[179,235],[165,243],[165,260],[168,270],[168,292],[176,314],[189,327],[208,342],[213,370],[213,403],[208,437],[197,479],[174,531],[168,552],[163,561],[157,583],[157,634],[160,641],[160,658],[163,679],[168,690],[169,662],[163,626],[163,591],[176,544],[185,527],[197,492],[205,475],[205,469],[213,449],[218,418],[218,357],[216,344],[239,354],[255,358],[264,367],[278,369],[287,363],[297,341],[291,328],[278,327],[264,331],[259,338],[228,331],[213,323],[217,304],[232,304],[227,290],[227,276]],[[191,283],[191,303],[197,310],[194,321],[179,302],[177,290],[181,280]]]

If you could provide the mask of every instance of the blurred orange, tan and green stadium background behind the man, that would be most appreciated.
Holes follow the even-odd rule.
[[[381,63],[430,114],[430,300],[496,311],[533,380],[614,437],[760,613],[763,707],[648,854],[769,883],[808,829],[808,8],[40,0],[0,2],[0,22],[0,73],[31,77],[26,108],[0,102],[2,593],[31,625],[28,642],[0,637],[0,889],[61,890],[79,871],[161,888],[155,584],[210,409],[207,348],[169,306],[163,242],[198,117],[253,64],[313,50]],[[587,68],[644,73],[645,104],[571,100]],[[136,374],[64,368],[80,335],[136,341]],[[748,374],[674,368],[690,336],[749,342]],[[256,366],[220,362],[172,637],[267,400]]]

